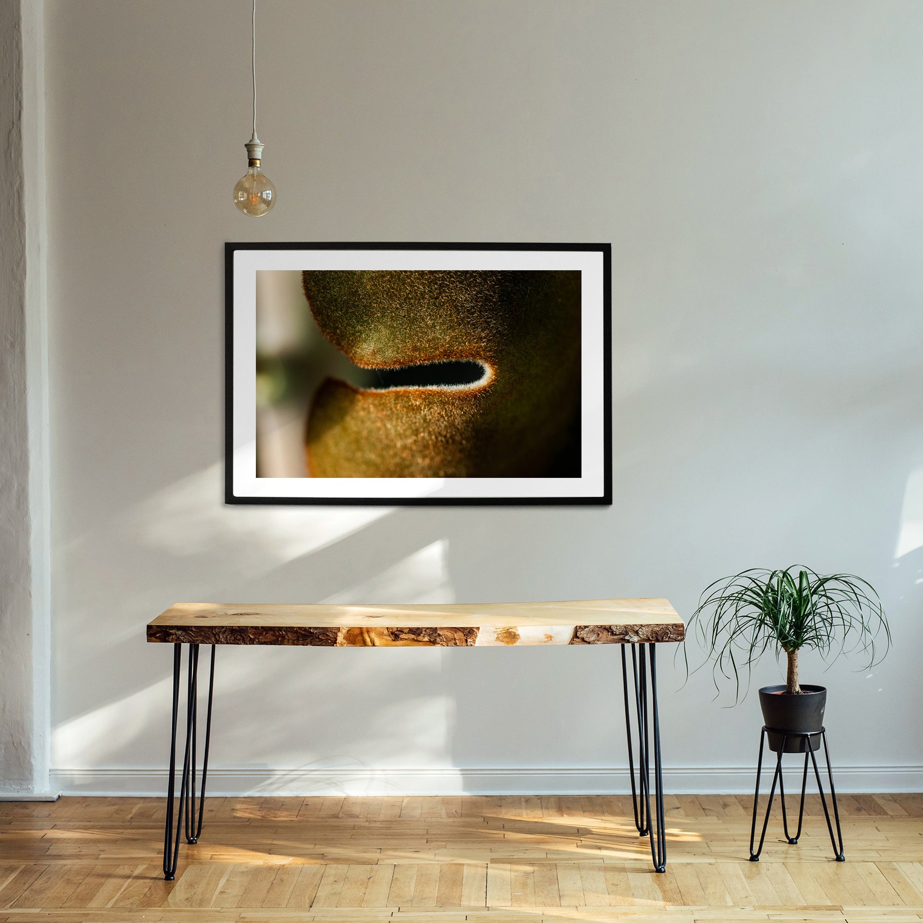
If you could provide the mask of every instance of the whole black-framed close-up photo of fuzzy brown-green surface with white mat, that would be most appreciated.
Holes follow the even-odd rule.
[[[228,503],[611,503],[608,244],[227,244]]]

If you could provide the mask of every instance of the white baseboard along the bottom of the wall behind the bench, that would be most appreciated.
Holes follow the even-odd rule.
[[[765,767],[764,767],[765,768]],[[795,772],[793,767],[792,772]],[[800,774],[800,773],[797,773]],[[664,769],[667,794],[747,794],[752,766]],[[771,778],[771,773],[767,775]],[[841,792],[923,791],[923,766],[834,767]],[[54,769],[52,787],[65,795],[161,797],[162,769]],[[624,795],[627,769],[213,769],[212,796],[308,795]]]

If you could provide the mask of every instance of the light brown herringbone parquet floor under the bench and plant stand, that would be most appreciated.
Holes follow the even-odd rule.
[[[820,802],[798,845],[775,817],[747,861],[748,797],[667,797],[650,865],[628,797],[212,798],[162,880],[162,799],[0,804],[0,923],[923,918],[923,795]]]

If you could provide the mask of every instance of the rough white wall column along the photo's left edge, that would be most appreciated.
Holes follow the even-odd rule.
[[[0,0],[0,792],[48,790],[42,4]]]

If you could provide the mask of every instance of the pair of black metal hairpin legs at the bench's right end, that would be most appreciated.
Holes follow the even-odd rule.
[[[635,712],[638,720],[638,785],[635,785],[634,753],[631,746],[631,715],[629,709],[628,664],[622,648],[622,690],[625,695],[625,726],[629,746],[629,774],[631,777],[631,802],[634,808],[635,827],[641,836],[651,836],[651,859],[656,871],[666,869],[666,832],[664,818],[664,772],[660,752],[660,713],[657,706],[657,660],[655,645],[631,645],[631,672],[634,679]],[[651,665],[651,708],[648,708],[648,663]],[[651,829],[651,725],[653,713],[653,784],[654,826]]]

